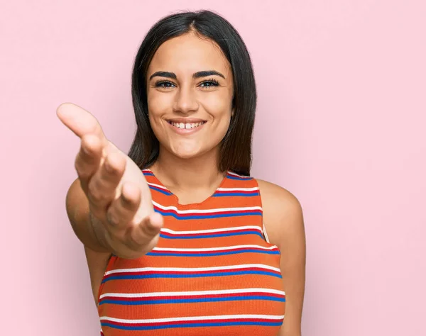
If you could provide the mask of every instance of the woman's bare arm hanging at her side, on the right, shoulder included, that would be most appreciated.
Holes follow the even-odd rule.
[[[263,221],[271,244],[281,252],[280,269],[285,285],[285,318],[278,336],[300,336],[305,295],[306,240],[302,207],[280,186],[258,180]]]

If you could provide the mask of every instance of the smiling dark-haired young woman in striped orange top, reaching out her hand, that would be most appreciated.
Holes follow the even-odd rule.
[[[89,112],[57,111],[81,138],[67,214],[101,333],[301,335],[302,209],[250,177],[256,86],[239,33],[210,11],[163,18],[138,51],[132,95],[129,156]]]

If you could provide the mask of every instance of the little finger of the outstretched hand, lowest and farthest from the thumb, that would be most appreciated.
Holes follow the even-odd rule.
[[[133,226],[133,228],[129,230],[130,246],[136,249],[141,245],[146,245],[160,233],[162,227],[163,216],[160,215],[160,213],[151,213],[151,215],[144,218],[141,223]]]

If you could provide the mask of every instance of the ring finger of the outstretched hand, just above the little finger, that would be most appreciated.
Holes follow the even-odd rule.
[[[109,230],[124,230],[138,211],[141,203],[141,189],[135,184],[126,182],[121,187],[121,195],[112,201],[107,210]]]

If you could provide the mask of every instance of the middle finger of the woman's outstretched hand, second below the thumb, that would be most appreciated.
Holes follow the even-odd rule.
[[[109,153],[104,163],[94,173],[87,186],[87,197],[95,215],[105,218],[107,208],[114,199],[119,196],[116,191],[124,170],[126,169],[126,158],[119,153]]]

